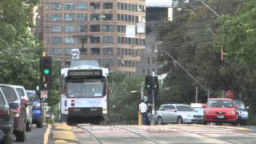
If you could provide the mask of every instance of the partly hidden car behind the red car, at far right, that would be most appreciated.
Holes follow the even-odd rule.
[[[238,108],[236,108],[238,123],[241,125],[246,125],[248,119],[247,110],[249,109],[249,106],[246,107],[241,100],[234,100],[233,103],[234,105],[238,105]]]

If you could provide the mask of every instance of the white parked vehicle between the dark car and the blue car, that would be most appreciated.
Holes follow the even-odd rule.
[[[24,86],[10,85],[14,88],[15,92],[22,98],[22,102],[30,103],[26,105],[26,131],[31,131],[32,128],[32,102],[26,95]]]

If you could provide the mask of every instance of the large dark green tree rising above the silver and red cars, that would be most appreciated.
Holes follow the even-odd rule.
[[[221,16],[234,15],[241,2],[243,1],[206,1]],[[192,2],[183,6],[182,11],[174,10],[173,22],[158,24],[158,40],[162,41],[159,51],[166,50],[203,86],[209,87],[212,95],[217,94],[218,90],[231,88],[230,82],[234,81],[230,80],[234,75],[230,76],[220,61],[220,47],[214,41],[220,22],[212,11],[201,2]],[[161,91],[164,102],[194,102],[194,87],[197,83],[179,66],[175,66],[175,62],[166,54],[159,54],[158,61],[165,63],[162,71],[167,74]],[[206,102],[206,98],[206,90],[199,89],[199,101]]]

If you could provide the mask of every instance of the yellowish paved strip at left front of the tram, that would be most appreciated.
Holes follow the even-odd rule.
[[[72,127],[66,123],[54,123],[51,128],[51,138],[54,144],[76,144],[78,143]]]

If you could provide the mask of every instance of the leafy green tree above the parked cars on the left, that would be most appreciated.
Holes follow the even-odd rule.
[[[38,85],[38,52],[34,35],[28,30],[29,7],[19,0],[0,2],[0,83],[25,86]]]

